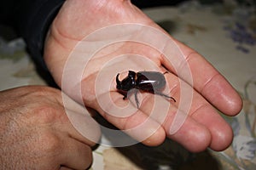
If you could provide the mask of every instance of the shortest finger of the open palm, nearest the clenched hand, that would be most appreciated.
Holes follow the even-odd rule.
[[[115,127],[129,134],[133,139],[146,145],[159,145],[166,139],[165,130],[158,122],[148,117],[137,107],[130,105],[129,100],[123,99],[117,92],[110,92],[112,100],[108,99],[109,93],[98,96],[104,105],[96,104],[96,110]],[[113,138],[118,139],[118,136]]]

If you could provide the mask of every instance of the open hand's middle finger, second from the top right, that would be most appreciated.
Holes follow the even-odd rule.
[[[211,133],[211,144],[209,145],[212,150],[224,150],[228,147],[232,141],[233,133],[230,125],[224,121],[223,117],[218,114],[215,108],[212,107],[208,103],[206,99],[204,99],[201,94],[195,91],[186,83],[178,83],[173,84],[173,82],[177,82],[177,77],[172,74],[166,74],[166,79],[168,81],[168,85],[172,88],[172,94],[175,98],[177,98],[178,110],[186,111],[183,105],[181,105],[181,100],[183,97],[178,94],[181,94],[181,89],[189,89],[186,90],[186,94],[192,94],[192,100],[189,104],[189,97],[183,99],[187,105],[191,105],[189,107],[189,116],[195,120],[195,122],[203,125],[208,129]],[[180,86],[180,84],[182,86]],[[173,89],[175,87],[176,89]],[[189,93],[191,91],[191,93]],[[188,111],[188,110],[187,110]]]

